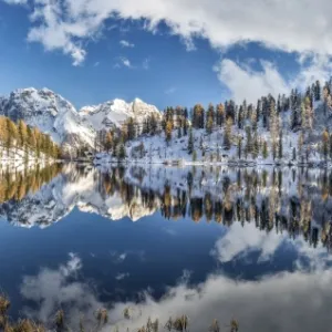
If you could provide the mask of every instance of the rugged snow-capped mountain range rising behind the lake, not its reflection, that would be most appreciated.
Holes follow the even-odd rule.
[[[49,89],[21,89],[8,97],[0,97],[0,115],[37,126],[68,152],[82,146],[92,148],[100,129],[118,127],[131,116],[139,123],[152,114],[160,117],[155,106],[141,100],[132,103],[114,100],[77,112],[69,101]]]

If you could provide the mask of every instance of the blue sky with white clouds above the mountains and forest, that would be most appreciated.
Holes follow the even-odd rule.
[[[314,33],[305,37],[308,46],[297,40],[301,17],[291,21],[292,38],[282,37],[283,31],[279,38],[278,27],[267,33],[259,27],[264,22],[251,27],[243,18],[238,23],[243,15],[239,10],[228,22],[220,1],[194,0],[190,6],[172,0],[165,12],[159,7],[170,3],[166,0],[142,0],[138,8],[132,0],[113,2],[114,8],[106,0],[0,0],[0,94],[45,86],[77,108],[115,97],[139,97],[164,108],[230,97],[250,102],[330,75],[329,45],[315,50]],[[156,2],[158,8],[152,4]],[[190,13],[191,7],[201,13]],[[257,10],[267,9],[261,4]],[[273,22],[267,20],[263,28],[269,30]]]

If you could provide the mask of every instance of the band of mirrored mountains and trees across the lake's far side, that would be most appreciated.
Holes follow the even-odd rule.
[[[52,225],[74,207],[112,220],[137,221],[157,210],[166,219],[226,226],[252,222],[258,229],[303,236],[331,247],[332,173],[319,169],[112,168],[68,165],[4,175],[0,211],[17,225]],[[56,176],[58,175],[58,176]],[[51,180],[52,179],[52,180]],[[49,183],[48,183],[49,181]],[[48,183],[48,184],[45,184]],[[18,214],[29,208],[29,215]],[[41,221],[31,211],[46,209]],[[15,210],[15,214],[12,214]],[[56,211],[56,212],[54,212]],[[40,219],[40,218],[39,218]],[[41,222],[39,222],[41,221]]]

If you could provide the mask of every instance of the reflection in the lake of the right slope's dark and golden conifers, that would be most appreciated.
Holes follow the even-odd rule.
[[[124,174],[124,169],[114,168],[102,175],[100,190],[104,199],[118,193],[123,203],[132,206],[139,197],[143,207],[149,210],[159,208],[166,219],[189,217],[194,222],[205,219],[227,227],[235,222],[242,226],[253,222],[262,231],[287,231],[293,239],[301,235],[314,248],[320,241],[332,248],[332,216],[326,208],[332,197],[332,172],[318,176],[293,170],[292,181],[298,188],[298,196],[289,197],[283,194],[289,179],[283,180],[281,169],[271,173],[238,169],[235,180],[228,176],[222,178],[219,195],[200,188],[204,193],[199,196],[194,194],[197,190],[195,185],[206,181],[211,174],[203,172],[195,175],[195,167],[187,174],[187,187],[176,190],[167,180],[163,190],[139,187],[128,183]],[[148,177],[148,174],[142,174],[142,179],[144,176]]]

